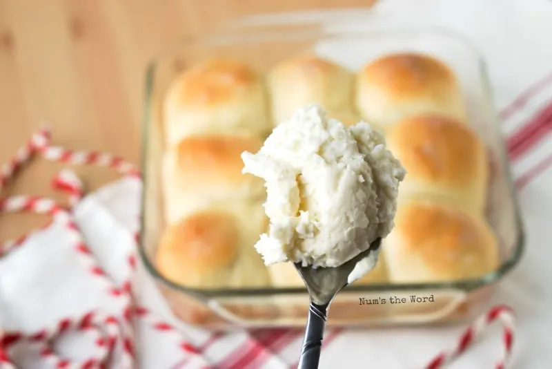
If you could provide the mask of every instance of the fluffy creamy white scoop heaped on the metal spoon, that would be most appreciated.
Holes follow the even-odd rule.
[[[242,160],[266,182],[270,225],[255,244],[266,265],[337,267],[393,229],[406,171],[366,122],[347,127],[319,106],[299,108]]]

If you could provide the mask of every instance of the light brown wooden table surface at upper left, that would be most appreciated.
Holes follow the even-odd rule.
[[[108,151],[138,164],[148,61],[184,35],[259,12],[369,6],[373,0],[0,0],[0,163],[44,120],[55,144]],[[2,189],[63,196],[50,189],[61,164],[34,160]],[[117,178],[75,167],[89,189]],[[0,216],[0,241],[46,222]]]

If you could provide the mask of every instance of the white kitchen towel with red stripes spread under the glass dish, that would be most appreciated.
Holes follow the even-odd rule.
[[[534,144],[520,149],[523,155],[513,164],[520,182],[520,202],[527,234],[526,253],[522,263],[500,285],[495,302],[508,303],[517,314],[513,368],[549,368],[552,362],[552,287],[547,243],[552,236],[552,171],[546,171],[552,155],[547,127],[551,120],[546,106],[552,102],[546,76],[552,70],[552,3],[533,1],[382,1],[383,10],[395,8],[397,17],[438,23],[468,35],[488,61],[491,88],[497,106],[503,110],[505,131],[514,135],[521,126]],[[376,9],[375,11],[379,11]],[[364,13],[369,18],[369,12]],[[339,15],[334,14],[338,17]],[[295,17],[286,16],[286,19]],[[297,16],[304,17],[304,16]],[[322,17],[317,15],[317,17]],[[327,13],[326,13],[326,19]],[[362,18],[357,14],[355,17]],[[280,19],[281,20],[281,19]],[[331,22],[330,22],[331,23]],[[349,25],[350,26],[350,25]],[[362,21],[357,25],[362,26]],[[544,81],[544,82],[543,82]],[[533,87],[531,87],[533,86]],[[535,87],[536,86],[536,87]],[[518,98],[516,98],[518,97]],[[515,104],[510,104],[512,101]],[[512,113],[513,112],[513,113]],[[533,124],[526,129],[526,124]],[[544,128],[543,128],[544,127]],[[519,137],[519,136],[518,136]],[[529,175],[526,175],[529,173]],[[90,194],[75,209],[76,221],[90,248],[103,261],[108,274],[122,278],[126,273],[125,256],[133,246],[136,229],[139,185],[124,179]],[[35,332],[56,325],[59,318],[79,316],[90,308],[116,312],[118,306],[101,292],[89,274],[83,272],[79,258],[70,247],[63,227],[53,225],[26,240],[17,250],[0,260],[0,327],[3,330]],[[163,319],[181,328],[186,339],[197,345],[209,334],[176,323],[159,292],[143,268],[139,267],[139,300]],[[394,328],[386,330],[329,332],[321,368],[356,366],[366,363],[377,368],[416,368],[428,362],[440,350],[454,346],[463,327]],[[482,341],[457,359],[451,368],[488,368],[500,357],[502,343],[498,331],[489,331]],[[199,368],[203,363],[194,355],[182,352],[174,336],[139,325],[137,351],[141,368]],[[300,334],[284,331],[279,342],[266,343],[256,358],[244,359],[237,348],[250,348],[249,335],[229,334],[204,351],[206,360],[217,368],[286,368],[297,361]],[[262,333],[257,342],[262,341]],[[71,338],[71,337],[70,337]],[[83,358],[91,350],[81,340],[64,341],[60,351],[70,358]],[[82,344],[82,347],[81,347]],[[245,346],[244,346],[245,345]],[[37,366],[32,347],[16,352],[25,357],[23,368]],[[346,354],[344,354],[346,352]],[[400,354],[397,354],[400,352]],[[228,359],[230,357],[230,359]],[[177,366],[177,363],[185,364]],[[233,363],[229,363],[233,361]],[[240,364],[241,363],[241,364]],[[286,364],[284,364],[286,363]]]

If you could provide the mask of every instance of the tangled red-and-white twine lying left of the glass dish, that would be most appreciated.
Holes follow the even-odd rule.
[[[120,173],[128,176],[139,178],[139,173],[134,169],[132,164],[124,162],[120,158],[112,155],[98,153],[83,153],[72,152],[50,145],[50,131],[41,129],[35,133],[31,140],[17,152],[17,155],[10,163],[0,169],[0,185],[6,185],[19,169],[32,158],[35,153],[41,153],[49,160],[66,162],[68,164],[93,164],[99,166],[112,167]],[[71,171],[62,171],[53,180],[52,185],[56,189],[65,191],[70,198],[71,206],[76,205],[83,197],[83,186],[79,178]],[[195,362],[204,363],[204,368],[210,368],[206,361],[198,354],[197,350],[190,343],[183,341],[180,334],[177,334],[175,328],[168,323],[155,319],[155,316],[144,308],[139,308],[133,303],[132,283],[130,278],[128,281],[117,286],[110,280],[103,268],[95,260],[83,238],[81,233],[72,218],[72,214],[68,209],[57,204],[52,199],[39,198],[35,196],[12,196],[2,198],[0,200],[0,211],[27,211],[37,214],[47,214],[52,216],[54,222],[62,223],[75,240],[75,249],[79,254],[90,274],[95,277],[98,283],[105,287],[106,293],[110,296],[123,299],[126,308],[121,312],[120,317],[107,316],[105,319],[98,318],[99,314],[88,313],[81,319],[63,319],[59,322],[57,328],[45,330],[37,334],[25,335],[21,332],[3,332],[0,335],[0,368],[16,368],[15,363],[10,359],[8,351],[16,343],[32,343],[33,345],[41,346],[40,354],[43,359],[53,363],[55,368],[108,368],[106,359],[111,357],[115,343],[118,343],[123,352],[124,362],[128,363],[128,368],[135,366],[135,343],[132,335],[132,323],[135,317],[142,320],[152,322],[152,327],[159,332],[172,332],[173,338],[177,345],[186,352],[199,357]],[[26,240],[27,237],[20,237],[17,240],[8,241],[0,245],[0,252],[8,252],[9,249]],[[131,254],[128,256],[128,263],[135,271],[136,256]],[[94,328],[94,329],[91,329]],[[115,329],[117,328],[117,329]],[[82,332],[92,332],[97,335],[97,346],[101,348],[97,354],[80,363],[68,361],[55,354],[52,349],[52,341],[59,338],[61,334],[68,330],[80,330]],[[104,332],[101,334],[101,332]]]

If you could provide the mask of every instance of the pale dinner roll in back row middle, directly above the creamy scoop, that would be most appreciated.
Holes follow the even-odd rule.
[[[279,124],[297,108],[318,104],[326,111],[350,111],[353,74],[342,66],[314,55],[287,59],[268,74],[272,115]]]

